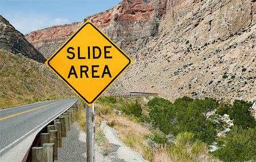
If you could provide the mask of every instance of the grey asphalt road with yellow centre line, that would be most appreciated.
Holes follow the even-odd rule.
[[[0,156],[76,101],[77,99],[51,100],[0,110]],[[24,147],[25,151],[26,149]]]

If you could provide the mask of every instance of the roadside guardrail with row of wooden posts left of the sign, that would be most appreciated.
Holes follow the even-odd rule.
[[[79,103],[80,100],[39,131],[22,161],[57,160],[57,148],[62,146],[62,138],[67,137],[66,133],[75,121]]]

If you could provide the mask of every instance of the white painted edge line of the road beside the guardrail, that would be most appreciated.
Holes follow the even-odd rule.
[[[22,137],[16,139],[13,143],[7,145],[5,148],[3,148],[2,150],[0,150],[0,156],[2,156],[1,153],[2,153],[3,151],[5,151],[7,148],[9,148],[9,147],[13,146],[14,144],[18,143],[21,139],[25,138],[27,135],[31,134],[32,132],[34,132],[34,131],[35,131],[36,129],[38,129],[39,127],[41,127],[41,129],[43,129],[43,127],[45,127],[46,125],[48,125],[49,122],[52,121],[52,120],[51,120],[52,118],[58,117],[60,114],[62,114],[63,112],[65,112],[67,109],[71,108],[71,106],[72,106],[73,104],[75,104],[75,103],[76,103],[76,102],[74,102],[74,103],[68,105],[66,109],[60,110],[59,112],[57,112],[57,113],[56,113],[55,115],[53,115],[52,117],[49,117],[46,121],[44,121],[44,122],[41,123],[40,125],[36,126],[34,129],[28,131],[28,133],[24,134]],[[40,130],[41,130],[41,129],[40,129]]]

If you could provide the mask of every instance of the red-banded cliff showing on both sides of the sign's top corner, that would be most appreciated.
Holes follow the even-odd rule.
[[[160,18],[167,1],[123,1],[112,9],[85,18],[90,19],[127,53],[144,46],[158,33]],[[26,35],[46,58],[49,58],[84,21],[57,25]]]

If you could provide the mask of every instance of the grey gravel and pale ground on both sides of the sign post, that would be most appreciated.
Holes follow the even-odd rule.
[[[108,154],[101,154],[102,147],[96,144],[96,161],[97,162],[130,162],[130,161],[146,161],[143,157],[125,146],[117,136],[117,131],[112,127],[104,124],[104,133],[108,139],[110,150]],[[58,148],[58,160],[65,162],[86,161],[86,133],[81,129],[77,122],[71,126],[67,137],[62,138],[62,147]]]

